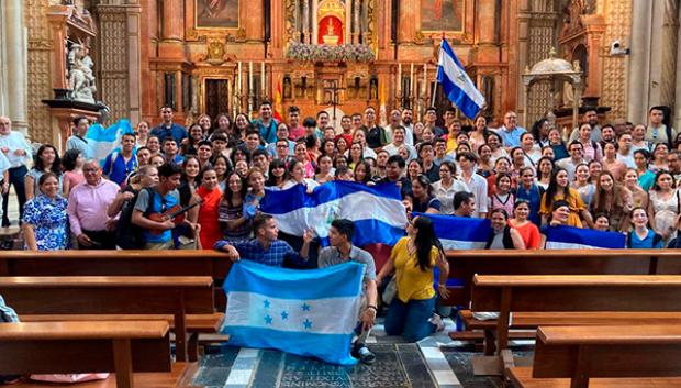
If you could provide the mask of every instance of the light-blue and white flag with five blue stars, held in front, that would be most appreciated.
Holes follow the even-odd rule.
[[[276,268],[249,260],[232,266],[223,286],[230,345],[277,348],[327,363],[354,365],[364,264],[313,270]]]

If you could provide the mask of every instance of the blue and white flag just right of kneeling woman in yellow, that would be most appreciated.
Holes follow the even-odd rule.
[[[482,250],[492,225],[488,219],[414,213],[433,220],[435,235],[445,250]]]

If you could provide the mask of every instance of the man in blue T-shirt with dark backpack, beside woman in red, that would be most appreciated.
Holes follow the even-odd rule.
[[[150,190],[142,190],[135,201],[132,223],[144,230],[142,239],[146,250],[171,250],[174,247],[172,220],[154,221],[152,214],[163,214],[180,203],[177,188],[180,186],[182,170],[175,163],[168,163],[158,169],[158,185]]]

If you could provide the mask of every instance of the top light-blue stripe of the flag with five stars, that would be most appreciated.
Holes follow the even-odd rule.
[[[347,264],[351,264],[348,266]],[[239,260],[230,269],[223,288],[226,292],[255,292],[280,299],[320,299],[354,297],[361,291],[364,264],[347,263],[321,269],[273,268]],[[330,277],[334,281],[320,281]],[[267,279],[267,281],[263,281]]]

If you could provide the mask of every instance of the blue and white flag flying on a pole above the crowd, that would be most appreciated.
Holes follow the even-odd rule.
[[[437,66],[437,81],[443,85],[445,96],[469,119],[475,118],[484,106],[484,97],[468,77],[466,69],[445,38],[439,47]]]

